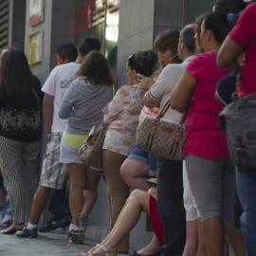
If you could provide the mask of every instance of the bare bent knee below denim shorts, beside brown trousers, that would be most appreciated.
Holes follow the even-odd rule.
[[[150,189],[147,181],[149,175],[149,166],[147,164],[127,158],[121,165],[120,174],[131,189],[138,189],[144,192]]]

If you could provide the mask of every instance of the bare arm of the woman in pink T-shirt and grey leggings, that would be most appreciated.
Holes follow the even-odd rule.
[[[183,113],[192,99],[192,94],[197,85],[197,81],[185,70],[180,80],[174,87],[171,95],[171,106],[180,113]]]

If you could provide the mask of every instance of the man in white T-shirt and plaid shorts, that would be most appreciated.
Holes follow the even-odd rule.
[[[42,90],[45,92],[44,115],[46,121],[47,147],[43,162],[40,185],[35,193],[30,219],[27,227],[16,233],[18,237],[37,237],[37,225],[46,208],[51,189],[62,189],[66,176],[66,167],[60,163],[60,143],[66,122],[59,119],[58,111],[69,84],[76,78],[77,71],[86,54],[91,50],[100,50],[97,38],[83,39],[78,48],[76,62],[56,66],[47,78]]]

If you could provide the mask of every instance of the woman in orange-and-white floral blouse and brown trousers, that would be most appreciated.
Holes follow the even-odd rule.
[[[143,107],[145,91],[137,84],[137,73],[153,74],[157,56],[153,50],[139,51],[131,55],[126,64],[126,75],[131,85],[122,86],[113,101],[103,110],[104,122],[108,125],[103,144],[103,166],[109,195],[111,229],[130,194],[130,188],[122,179],[119,170],[135,148],[135,135],[139,113]],[[119,252],[129,249],[128,236],[119,244]]]

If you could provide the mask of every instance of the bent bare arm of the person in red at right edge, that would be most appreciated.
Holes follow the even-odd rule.
[[[237,59],[243,50],[244,48],[242,46],[236,44],[228,36],[218,52],[217,64],[220,67],[229,68],[233,71],[239,71],[240,66]]]

